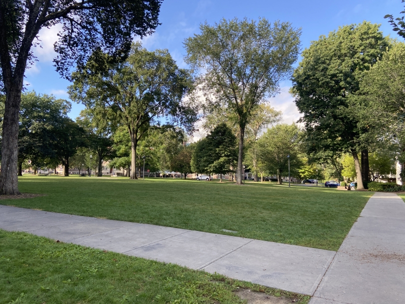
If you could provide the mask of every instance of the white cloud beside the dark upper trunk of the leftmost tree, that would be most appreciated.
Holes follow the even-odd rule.
[[[53,43],[58,39],[57,33],[62,29],[61,24],[55,24],[51,27],[42,27],[39,30],[38,38],[39,45],[34,49],[34,54],[42,61],[52,61],[55,57],[55,51],[53,50]]]

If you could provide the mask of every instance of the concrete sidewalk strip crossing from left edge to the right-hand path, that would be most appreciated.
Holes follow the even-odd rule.
[[[0,205],[0,228],[312,295],[335,251]]]

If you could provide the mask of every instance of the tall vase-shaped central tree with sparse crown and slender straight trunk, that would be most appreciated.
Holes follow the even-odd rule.
[[[184,45],[185,60],[201,70],[198,83],[207,110],[226,105],[239,127],[237,183],[242,183],[243,140],[254,107],[278,92],[280,80],[289,76],[299,52],[300,29],[288,22],[266,19],[225,20],[200,25],[200,34]]]

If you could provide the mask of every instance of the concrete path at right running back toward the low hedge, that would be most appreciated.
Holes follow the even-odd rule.
[[[367,202],[310,304],[405,301],[405,203],[377,192]]]

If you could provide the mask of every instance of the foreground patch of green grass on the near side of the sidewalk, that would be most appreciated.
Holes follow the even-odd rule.
[[[119,253],[0,230],[0,303],[242,303],[232,290],[309,296]]]

